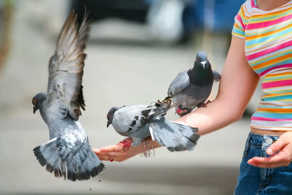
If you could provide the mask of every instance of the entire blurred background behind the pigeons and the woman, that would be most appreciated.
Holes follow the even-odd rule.
[[[172,79],[191,68],[201,50],[221,73],[242,3],[0,0],[0,194],[232,195],[260,86],[237,123],[201,137],[194,151],[160,148],[154,159],[106,161],[101,176],[83,182],[57,179],[37,162],[32,150],[49,134],[31,102],[47,90],[48,62],[63,22],[72,9],[82,20],[86,6],[93,23],[83,77],[87,110],[80,121],[92,147],[115,144],[123,137],[106,128],[111,107],[164,98]],[[178,118],[174,109],[166,117]]]

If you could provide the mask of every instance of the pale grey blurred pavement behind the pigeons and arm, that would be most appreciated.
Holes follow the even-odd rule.
[[[21,21],[23,14],[18,13],[16,20]],[[161,148],[154,159],[135,156],[122,163],[105,162],[105,172],[89,181],[64,181],[47,173],[32,150],[48,141],[48,130],[39,112],[33,114],[31,100],[38,92],[46,91],[48,60],[54,52],[55,38],[48,39],[45,33],[21,22],[13,32],[14,51],[0,78],[1,195],[233,194],[249,118],[201,137],[192,152],[170,153]],[[87,110],[80,118],[94,148],[123,139],[111,126],[106,128],[110,107],[164,98],[171,80],[192,67],[198,51],[192,47],[107,44],[97,39],[98,32],[93,27],[87,49],[83,79]],[[209,60],[213,69],[221,72],[224,56],[210,56]],[[174,110],[166,117],[178,118]]]

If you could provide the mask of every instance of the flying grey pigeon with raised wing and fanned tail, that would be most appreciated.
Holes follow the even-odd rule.
[[[34,154],[49,173],[71,181],[88,180],[105,169],[78,121],[81,109],[85,110],[82,76],[90,30],[87,18],[85,14],[78,29],[72,10],[50,59],[47,93],[38,93],[32,100],[34,114],[39,109],[50,133],[50,141],[36,147]]]

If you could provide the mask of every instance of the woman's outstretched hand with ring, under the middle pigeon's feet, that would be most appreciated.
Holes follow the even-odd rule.
[[[131,137],[127,137],[124,140],[127,142],[133,142]],[[92,148],[92,150],[101,160],[122,162],[142,153],[142,145],[137,147],[129,146],[129,150],[125,152],[123,151],[122,143],[117,143],[100,149]]]

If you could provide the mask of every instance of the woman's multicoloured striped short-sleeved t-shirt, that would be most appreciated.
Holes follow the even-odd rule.
[[[292,0],[272,11],[246,0],[232,35],[245,39],[246,59],[261,78],[263,94],[251,127],[292,131]]]

